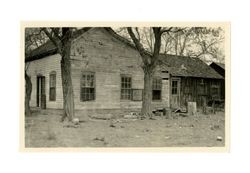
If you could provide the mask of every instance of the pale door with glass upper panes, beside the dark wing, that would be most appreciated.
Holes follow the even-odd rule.
[[[171,81],[171,108],[180,108],[180,79],[173,78]]]

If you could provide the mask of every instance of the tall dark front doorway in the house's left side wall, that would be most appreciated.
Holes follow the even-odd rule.
[[[37,107],[46,109],[45,76],[37,76]]]

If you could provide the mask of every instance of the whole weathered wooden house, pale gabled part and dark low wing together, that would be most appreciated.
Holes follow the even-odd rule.
[[[25,58],[31,76],[30,106],[63,109],[61,57],[52,42]],[[142,106],[142,60],[135,47],[110,28],[92,28],[71,47],[76,113],[136,111]],[[199,59],[161,55],[152,84],[154,108],[185,107],[187,101],[220,99],[223,79]]]

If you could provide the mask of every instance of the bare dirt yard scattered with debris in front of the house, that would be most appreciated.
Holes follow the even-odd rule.
[[[59,114],[25,118],[26,147],[220,147],[225,142],[225,115],[166,119],[86,118],[80,125],[60,122]],[[217,138],[221,139],[217,139]]]

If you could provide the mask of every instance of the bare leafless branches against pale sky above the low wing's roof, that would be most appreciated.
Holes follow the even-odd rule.
[[[182,31],[163,36],[164,53],[191,56],[205,61],[224,59],[224,31],[220,27],[185,27]]]

